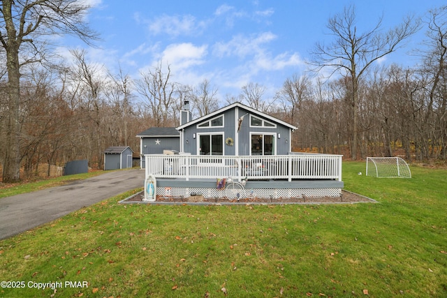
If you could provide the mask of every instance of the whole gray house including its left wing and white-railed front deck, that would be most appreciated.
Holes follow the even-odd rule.
[[[230,177],[247,179],[245,189],[254,198],[339,197],[342,156],[291,152],[295,128],[241,103],[192,119],[185,103],[177,128],[138,135],[146,179],[156,177],[157,195],[184,198],[228,197],[217,181]]]

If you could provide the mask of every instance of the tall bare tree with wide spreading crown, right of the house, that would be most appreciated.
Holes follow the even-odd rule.
[[[374,28],[358,33],[355,7],[344,8],[343,13],[328,21],[327,27],[335,38],[333,43],[316,43],[312,52],[312,64],[317,69],[329,67],[332,73],[338,72],[350,80],[349,97],[353,107],[352,159],[357,158],[359,80],[374,61],[395,52],[419,27],[419,22],[411,17],[406,17],[402,24],[385,33],[381,31],[381,24],[380,18]]]

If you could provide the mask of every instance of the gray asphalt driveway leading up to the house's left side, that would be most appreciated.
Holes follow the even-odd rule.
[[[144,185],[144,170],[105,172],[33,193],[0,198],[0,239]]]

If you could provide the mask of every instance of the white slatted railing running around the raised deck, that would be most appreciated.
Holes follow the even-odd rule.
[[[145,155],[146,177],[256,179],[336,179],[342,181],[342,156],[298,154],[275,156]]]

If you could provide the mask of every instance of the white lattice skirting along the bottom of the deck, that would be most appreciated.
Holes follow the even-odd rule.
[[[306,197],[339,197],[342,194],[342,188],[247,188],[244,191],[246,197],[256,198],[302,198]],[[203,195],[205,198],[224,198],[226,191],[216,188],[200,187],[157,187],[156,194],[161,196],[174,196],[188,198],[192,195]]]

